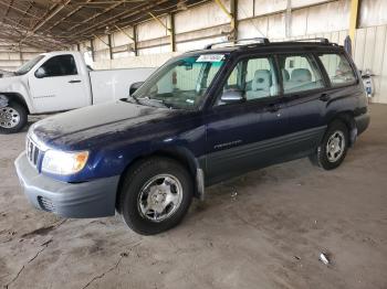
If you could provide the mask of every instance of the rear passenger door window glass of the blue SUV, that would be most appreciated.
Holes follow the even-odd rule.
[[[279,55],[284,94],[324,87],[322,74],[312,55]]]

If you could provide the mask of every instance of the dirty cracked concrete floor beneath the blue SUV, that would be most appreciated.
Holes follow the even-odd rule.
[[[335,171],[308,160],[208,190],[177,228],[143,237],[117,217],[33,210],[13,169],[25,133],[0,136],[6,288],[387,288],[387,106]],[[318,260],[325,251],[332,263]]]

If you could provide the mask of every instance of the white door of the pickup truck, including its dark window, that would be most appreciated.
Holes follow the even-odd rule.
[[[38,113],[86,106],[86,77],[79,73],[74,56],[52,56],[29,76],[31,97]]]

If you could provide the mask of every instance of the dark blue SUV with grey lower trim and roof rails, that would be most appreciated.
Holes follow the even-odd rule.
[[[177,225],[205,186],[303,157],[338,167],[368,124],[342,46],[263,39],[185,53],[128,98],[34,124],[15,167],[35,207],[65,217],[118,212],[151,235]]]

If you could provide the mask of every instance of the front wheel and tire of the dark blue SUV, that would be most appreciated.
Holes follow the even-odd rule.
[[[118,212],[134,232],[155,235],[175,227],[186,215],[194,182],[179,162],[159,157],[147,159],[124,178]]]

